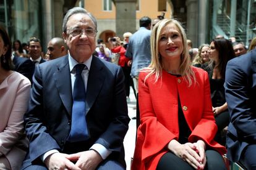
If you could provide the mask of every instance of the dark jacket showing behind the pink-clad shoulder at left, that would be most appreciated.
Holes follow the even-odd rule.
[[[12,60],[14,63],[14,71],[26,76],[32,83],[33,73],[35,71],[35,65],[30,59],[14,56]]]

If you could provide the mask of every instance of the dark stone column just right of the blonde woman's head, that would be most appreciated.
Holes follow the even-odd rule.
[[[187,0],[187,38],[192,41],[193,47],[198,47],[198,1]]]

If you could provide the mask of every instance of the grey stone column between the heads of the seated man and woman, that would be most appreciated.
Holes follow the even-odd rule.
[[[136,31],[136,0],[116,0],[116,36]]]

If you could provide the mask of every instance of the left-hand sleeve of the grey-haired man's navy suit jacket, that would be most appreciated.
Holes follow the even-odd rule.
[[[40,67],[36,67],[28,111],[25,113],[25,130],[30,140],[29,155],[32,161],[49,150],[60,148],[44,124],[42,91]]]

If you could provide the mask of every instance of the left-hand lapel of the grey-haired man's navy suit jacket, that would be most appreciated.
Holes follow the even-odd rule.
[[[63,60],[59,61],[60,65],[57,65],[57,71],[54,73],[54,80],[56,87],[59,92],[59,96],[69,113],[71,115],[72,111],[72,88],[71,88],[71,78],[70,69],[68,62],[68,55],[66,55]]]

